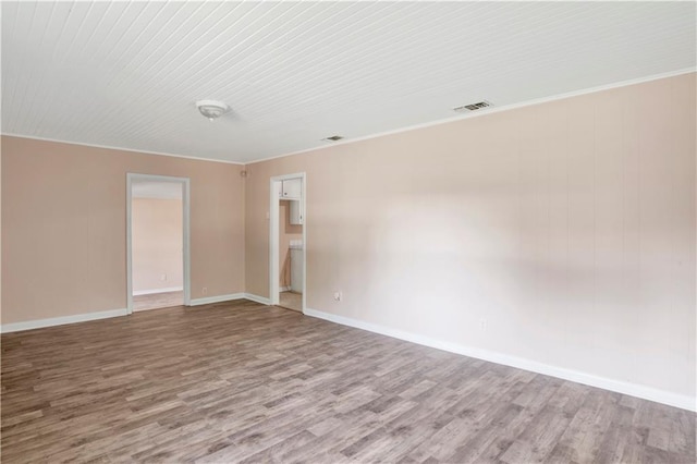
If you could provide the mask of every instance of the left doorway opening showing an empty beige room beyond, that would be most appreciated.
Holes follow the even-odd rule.
[[[126,176],[127,307],[189,305],[188,179]]]

